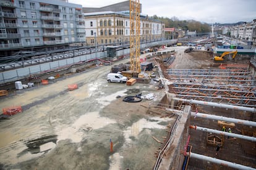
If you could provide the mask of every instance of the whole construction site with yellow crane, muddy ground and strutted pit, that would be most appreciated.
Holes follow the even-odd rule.
[[[1,86],[0,169],[256,169],[255,54],[177,41],[140,54],[130,3],[126,57]]]

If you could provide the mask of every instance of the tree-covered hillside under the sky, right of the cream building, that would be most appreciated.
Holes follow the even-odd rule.
[[[197,31],[197,33],[209,33],[211,31],[210,25],[208,25],[208,23],[201,23],[195,20],[179,20],[177,17],[167,18],[158,17],[157,15],[153,15],[149,18],[164,22],[166,28],[174,27],[184,31]]]

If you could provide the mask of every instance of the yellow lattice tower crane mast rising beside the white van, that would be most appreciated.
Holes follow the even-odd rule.
[[[140,73],[140,1],[130,0],[130,70]]]

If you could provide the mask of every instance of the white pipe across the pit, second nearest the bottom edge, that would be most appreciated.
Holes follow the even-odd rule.
[[[223,132],[223,131],[218,131],[218,130],[215,130],[215,129],[208,129],[206,127],[200,127],[200,126],[191,126],[190,125],[189,128],[195,129],[195,130],[199,130],[199,131],[211,132],[211,133],[214,133],[214,134],[222,134],[224,136],[236,137],[236,138],[240,138],[240,139],[245,139],[245,140],[250,140],[252,142],[256,142],[256,137],[252,137],[252,136],[244,136],[244,135],[240,135],[240,134]]]

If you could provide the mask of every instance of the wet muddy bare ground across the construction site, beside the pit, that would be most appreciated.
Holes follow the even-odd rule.
[[[185,54],[186,48],[169,47],[176,59],[166,68],[213,63],[210,54]],[[0,169],[152,169],[161,146],[152,137],[163,141],[175,118],[148,115],[142,105],[151,100],[123,102],[126,95],[157,95],[158,83],[108,83],[110,69],[91,68],[1,97],[0,108],[20,105],[23,112],[0,122]],[[79,88],[68,91],[68,84]]]

